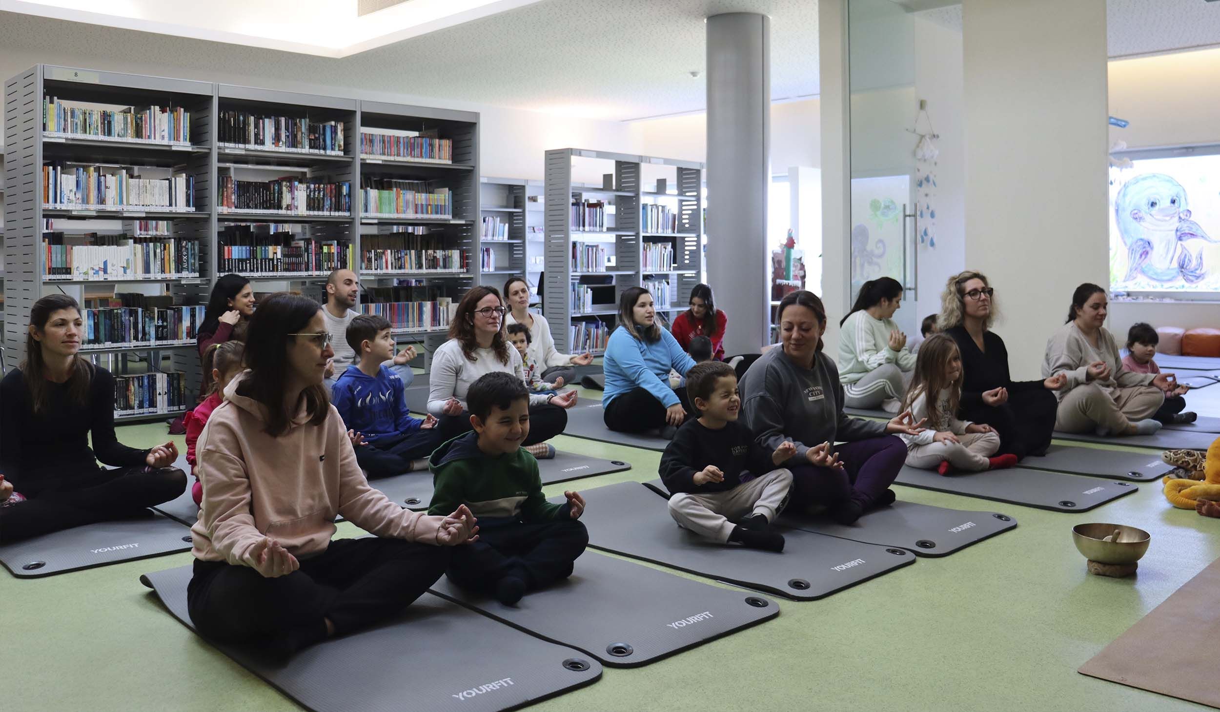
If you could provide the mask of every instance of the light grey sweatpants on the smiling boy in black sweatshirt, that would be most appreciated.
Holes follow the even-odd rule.
[[[775,522],[791,486],[792,473],[781,467],[728,491],[678,493],[670,497],[670,516],[680,527],[723,544],[733,532],[734,519],[762,514]]]

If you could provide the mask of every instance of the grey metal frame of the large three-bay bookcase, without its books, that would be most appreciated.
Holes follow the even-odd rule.
[[[45,137],[43,133],[43,99],[112,104],[121,106],[173,105],[190,115],[190,146],[168,146],[134,141],[98,140],[76,137]],[[217,121],[220,111],[246,109],[273,116],[307,117],[311,121],[342,121],[344,126],[343,155],[305,150],[267,150],[256,146],[221,145]],[[165,284],[176,304],[206,304],[218,276],[218,230],[242,223],[295,223],[304,237],[336,239],[350,245],[354,265],[361,266],[361,233],[390,234],[399,224],[432,224],[440,228],[445,245],[461,249],[466,255],[462,269],[389,272],[361,274],[372,285],[388,285],[398,279],[418,279],[438,284],[455,301],[476,284],[479,246],[478,191],[478,113],[364,101],[354,98],[327,96],[239,87],[233,84],[145,77],[51,65],[37,65],[9,79],[5,84],[4,180],[4,322],[0,343],[6,347],[5,366],[12,367],[24,357],[24,329],[29,308],[46,289],[88,284]],[[440,138],[453,140],[453,162],[420,162],[361,156],[361,128],[433,129]],[[168,211],[73,211],[44,208],[41,166],[56,160],[78,160],[94,163],[174,167],[188,172],[195,180],[195,212]],[[243,174],[243,179],[272,179],[282,174],[325,178],[327,182],[350,182],[353,210],[346,216],[300,216],[222,211],[218,207],[220,176]],[[370,217],[361,213],[360,187],[362,176],[392,176],[407,179],[437,180],[453,191],[451,218],[436,217]],[[100,234],[132,234],[134,219],[171,221],[171,234],[199,241],[199,277],[179,279],[131,278],[120,280],[45,279],[45,255],[41,245],[43,218],[60,222],[71,229],[78,219],[122,222],[120,228],[88,230]],[[89,224],[89,223],[85,223]],[[287,283],[318,299],[323,297],[326,272],[276,273],[253,276],[256,285],[268,282]],[[257,287],[256,287],[257,289]],[[179,300],[181,297],[181,300]],[[423,340],[434,347],[444,340],[447,329],[396,329],[403,340]],[[106,345],[84,350],[96,357],[118,360],[120,367],[134,354],[148,355],[150,368],[161,368],[162,355],[168,355],[173,371],[188,374],[188,397],[199,389],[199,357],[193,344]],[[188,401],[189,404],[189,401]],[[142,413],[137,417],[167,417],[174,413]]]

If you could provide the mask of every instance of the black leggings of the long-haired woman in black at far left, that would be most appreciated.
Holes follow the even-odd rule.
[[[187,473],[176,467],[98,469],[96,477],[73,489],[44,490],[23,502],[0,507],[0,541],[135,517],[185,489]]]

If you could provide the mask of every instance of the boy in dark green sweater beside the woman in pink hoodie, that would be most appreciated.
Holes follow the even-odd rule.
[[[538,461],[521,449],[529,435],[529,391],[510,373],[488,373],[466,394],[475,430],[449,440],[428,460],[434,489],[428,512],[465,504],[478,517],[478,541],[455,549],[449,579],[511,606],[527,590],[572,575],[589,534],[580,523],[584,499],[542,494]]]

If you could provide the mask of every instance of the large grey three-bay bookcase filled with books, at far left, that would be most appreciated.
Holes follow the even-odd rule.
[[[57,105],[54,116],[68,119],[66,127],[56,128],[67,130],[44,130],[43,102],[50,101],[49,98],[55,98]],[[132,135],[127,127],[138,124],[126,116],[124,107],[135,107],[127,111],[138,113],[150,106],[184,112],[174,115],[171,122],[174,128],[189,127],[178,132],[185,135],[176,134],[182,140]],[[416,317],[421,308],[429,312],[423,315],[431,317],[428,326],[420,327],[416,319],[395,329],[404,340],[431,341],[426,349],[429,351],[444,340],[448,308],[437,299],[426,308],[417,302],[429,295],[455,301],[479,278],[476,112],[51,65],[37,65],[7,80],[4,110],[5,140],[0,145],[7,148],[0,156],[10,190],[0,191],[2,234],[9,238],[4,241],[7,272],[0,272],[0,278],[7,277],[2,280],[0,343],[6,349],[6,367],[24,357],[29,308],[51,291],[72,294],[83,308],[87,297],[118,299],[131,293],[149,297],[168,295],[174,306],[205,305],[217,277],[238,272],[255,282],[260,293],[299,289],[322,299],[327,274],[346,261],[361,276],[365,288],[361,302],[383,304],[401,293],[410,296],[406,311],[414,310]],[[87,115],[73,110],[115,113]],[[82,121],[81,116],[92,118]],[[98,119],[99,116],[104,118]],[[118,126],[124,128],[111,128]],[[92,133],[81,135],[81,130]],[[365,132],[393,135],[390,148],[405,149],[406,155],[367,151],[370,146],[361,140]],[[116,135],[99,135],[102,133]],[[442,155],[437,154],[438,148],[443,148]],[[44,180],[46,166],[62,166],[63,172]],[[174,202],[178,195],[185,195],[178,190],[174,199],[155,206],[110,200],[72,205],[46,201],[49,195],[59,195],[55,188],[63,187],[62,176],[70,171],[76,176],[78,166],[93,166],[95,173],[104,176],[126,168],[123,185],[135,189],[144,184],[134,179],[189,178],[194,200],[189,205],[182,200]],[[384,202],[365,211],[362,178],[382,180],[377,187],[426,183],[427,189],[420,193],[427,195],[392,191],[400,201],[392,211],[381,210]],[[124,190],[126,195],[144,195],[131,188]],[[442,194],[443,200],[438,198]],[[105,195],[109,198],[109,193]],[[68,194],[68,198],[76,196]],[[404,205],[410,210],[399,210]],[[44,223],[48,219],[49,226]],[[82,255],[95,254],[77,247],[113,246],[117,240],[110,238],[133,237],[142,229],[149,233],[142,239],[154,243],[173,239],[192,244],[198,266],[181,271],[174,263],[174,269],[166,271],[157,263],[152,274],[134,274],[124,268],[111,271],[111,261],[105,269],[78,271],[77,263],[84,262]],[[429,262],[417,251],[407,263],[405,250],[414,247],[401,244],[396,255],[400,265],[361,269],[362,247],[395,245],[404,238],[421,238],[423,232],[438,240],[439,249],[456,251],[458,258],[449,263]],[[49,251],[43,244],[44,233],[55,249]],[[52,238],[51,233],[56,235]],[[362,244],[362,238],[367,244]],[[240,263],[244,268],[234,268],[238,258],[245,260]],[[189,265],[190,260],[183,263]],[[146,266],[148,261],[140,265]],[[89,294],[87,289],[102,291]],[[381,299],[384,296],[389,299]],[[394,308],[396,315],[404,312],[401,304],[386,308]],[[162,373],[183,374],[173,378],[184,383],[184,404],[173,408],[137,405],[118,410],[116,402],[120,419],[170,417],[193,406],[200,378],[193,333],[189,338],[156,343],[105,341],[82,352],[116,377],[148,376],[151,384],[166,382]],[[156,386],[163,388],[166,383]]]

